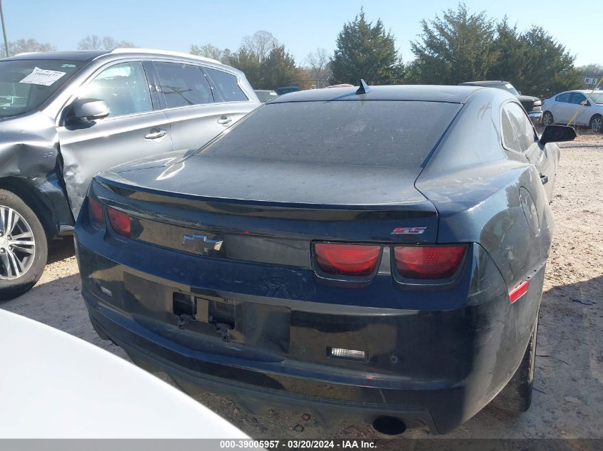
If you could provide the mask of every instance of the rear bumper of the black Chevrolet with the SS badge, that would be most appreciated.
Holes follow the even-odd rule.
[[[128,244],[124,252],[124,247],[111,247],[85,232],[77,243],[82,294],[91,321],[133,361],[165,371],[193,395],[213,390],[251,408],[300,405],[326,424],[392,415],[408,427],[427,425],[434,433],[445,433],[464,423],[515,372],[537,312],[538,284],[542,289],[542,279],[535,276],[530,284],[534,292],[510,306],[500,273],[477,245],[467,262],[469,280],[456,287],[465,289],[465,303],[446,311],[421,311],[275,299],[278,292],[271,297],[233,294],[218,288],[224,281],[216,261],[181,253],[166,261],[165,249],[148,246],[144,246],[148,258],[141,261],[136,247],[142,244]],[[207,274],[206,264],[211,264],[213,280],[191,276]],[[240,290],[251,289],[236,266],[230,263],[228,276],[238,281]],[[174,268],[186,268],[186,274]],[[253,289],[258,285],[256,281]],[[226,286],[232,289],[233,284]],[[475,289],[475,296],[467,298],[467,286]],[[266,289],[274,293],[269,284]],[[258,336],[265,334],[247,331],[243,343],[226,343],[219,336],[199,333],[207,326],[200,321],[178,327],[178,317],[166,304],[173,292],[253,305],[258,309],[253,314],[264,318],[257,327],[270,328],[273,340],[260,340]],[[447,296],[452,304],[455,294],[438,296],[438,304]],[[288,323],[286,333],[273,323]],[[365,346],[370,361],[329,359],[325,344],[330,343],[350,349]]]

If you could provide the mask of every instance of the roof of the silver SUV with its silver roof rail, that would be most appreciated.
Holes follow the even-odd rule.
[[[93,61],[100,56],[106,55],[131,55],[131,56],[176,56],[178,58],[188,58],[197,61],[204,61],[213,64],[223,64],[212,58],[191,55],[189,53],[173,52],[166,50],[157,50],[154,48],[115,48],[113,50],[74,50],[74,51],[52,51],[52,52],[28,52],[19,53],[15,56],[9,56],[4,60],[19,59],[54,59],[54,60],[72,60],[72,61]]]

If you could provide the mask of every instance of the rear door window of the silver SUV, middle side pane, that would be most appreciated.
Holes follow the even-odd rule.
[[[168,108],[213,103],[213,95],[199,66],[153,61]]]

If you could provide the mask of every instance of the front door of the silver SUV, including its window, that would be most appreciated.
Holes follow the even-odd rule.
[[[57,128],[63,177],[75,218],[98,172],[172,150],[168,118],[153,105],[141,61],[101,68],[81,85],[77,98],[105,100],[110,113],[107,118],[83,122],[67,106]]]

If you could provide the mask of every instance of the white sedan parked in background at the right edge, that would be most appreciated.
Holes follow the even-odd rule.
[[[603,131],[603,90],[568,90],[542,103],[542,125],[584,125]],[[574,117],[575,116],[575,117]]]

